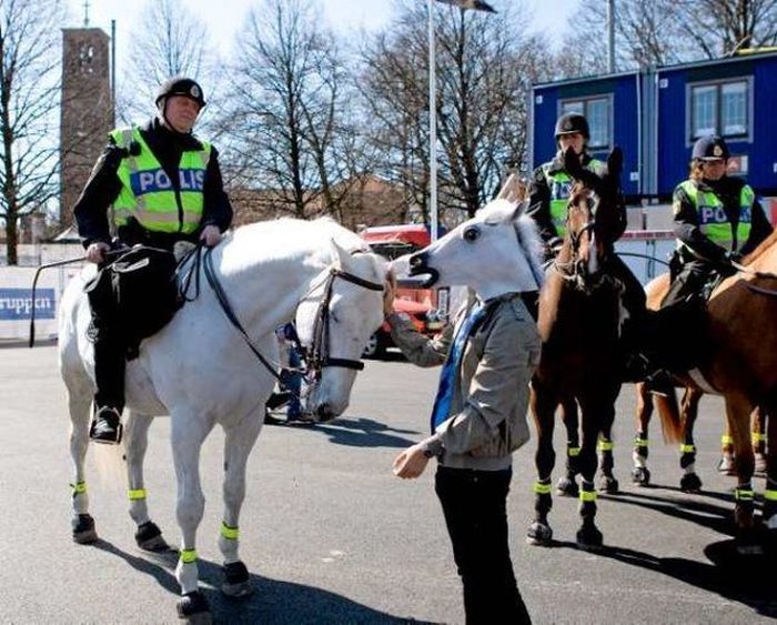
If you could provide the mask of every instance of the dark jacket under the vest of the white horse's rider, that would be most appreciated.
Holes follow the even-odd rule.
[[[178,167],[183,151],[201,150],[202,144],[192,134],[172,132],[163,127],[158,118],[141,128],[141,134],[154,157],[159,160],[173,184],[179,188]],[[111,234],[108,222],[108,208],[119,196],[121,181],[117,175],[124,151],[117,147],[112,138],[98,160],[92,174],[87,182],[81,196],[75,202],[73,212],[78,222],[79,234],[84,248],[95,241],[110,242]],[[180,190],[180,189],[179,189]],[[211,149],[211,157],[205,171],[203,188],[204,204],[200,229],[193,234],[170,234],[149,232],[135,220],[121,226],[118,236],[129,245],[145,243],[169,248],[174,241],[182,239],[196,240],[205,225],[216,225],[224,232],[232,222],[232,205],[224,192],[219,167],[219,153]]]

